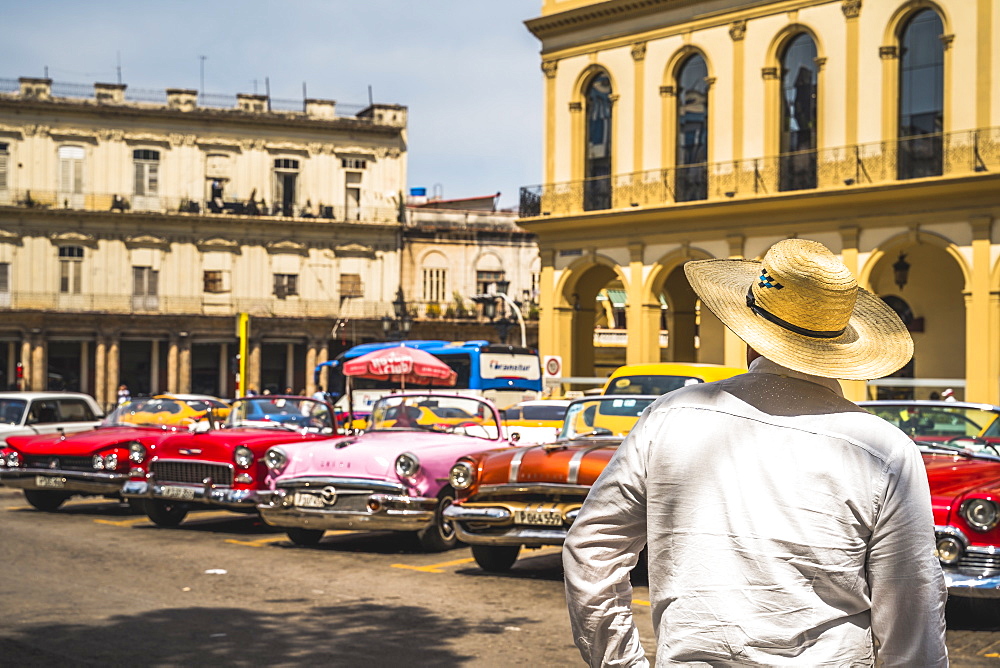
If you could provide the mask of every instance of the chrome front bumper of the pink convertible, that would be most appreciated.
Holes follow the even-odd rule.
[[[294,495],[283,489],[261,496],[263,502],[257,505],[257,511],[271,526],[324,531],[419,531],[434,523],[438,505],[435,497],[370,494],[366,510],[337,510],[296,506]]]

